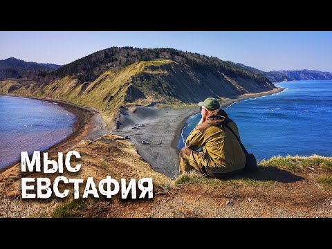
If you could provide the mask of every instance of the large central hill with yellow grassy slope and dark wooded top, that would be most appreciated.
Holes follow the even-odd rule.
[[[112,47],[77,59],[34,82],[0,82],[0,93],[37,95],[100,109],[108,124],[131,104],[183,107],[208,97],[275,89],[232,62],[173,48]]]

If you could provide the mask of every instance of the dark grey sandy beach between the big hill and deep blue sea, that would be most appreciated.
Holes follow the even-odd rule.
[[[283,88],[273,89],[261,93],[240,95],[232,99],[225,99],[221,107],[245,100],[271,95],[284,91]],[[185,120],[195,113],[199,113],[199,107],[187,107],[183,109],[159,109],[156,107],[136,107],[136,111],[122,111],[120,122],[122,126],[114,131],[117,135],[128,136],[142,156],[157,172],[171,178],[178,175],[178,138],[181,135]],[[144,124],[139,129],[131,129],[135,124]],[[150,145],[142,145],[146,140]]]

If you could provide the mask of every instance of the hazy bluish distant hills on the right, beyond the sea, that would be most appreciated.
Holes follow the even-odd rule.
[[[248,69],[254,73],[264,75],[272,82],[292,81],[292,80],[332,80],[332,73],[321,72],[315,70],[283,70],[283,71],[270,71],[264,72],[251,66],[246,66],[241,63],[237,63],[237,66]]]

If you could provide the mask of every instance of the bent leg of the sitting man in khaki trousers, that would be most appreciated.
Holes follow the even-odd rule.
[[[192,169],[201,171],[200,169],[201,159],[200,153],[187,147],[183,147],[179,154],[179,170],[180,174],[190,172]]]

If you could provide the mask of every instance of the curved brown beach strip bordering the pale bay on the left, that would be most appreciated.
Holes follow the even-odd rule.
[[[73,124],[73,133],[71,133],[63,140],[57,142],[55,145],[52,145],[51,147],[48,147],[48,149],[44,150],[49,152],[50,156],[54,156],[55,154],[57,154],[57,152],[68,149],[69,147],[75,145],[77,142],[80,142],[81,140],[93,139],[109,132],[106,129],[106,124],[104,120],[102,120],[102,116],[100,115],[99,111],[97,109],[94,109],[93,107],[82,107],[70,102],[53,100],[49,98],[37,98],[33,96],[13,94],[1,95],[9,97],[31,98],[34,100],[50,102],[53,104],[57,104],[59,107],[62,107],[63,109],[66,109],[66,111],[69,111],[75,115],[77,120]],[[2,172],[5,172],[10,167],[17,165],[17,163],[19,163],[19,161],[1,168],[0,174]]]

